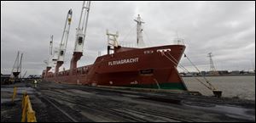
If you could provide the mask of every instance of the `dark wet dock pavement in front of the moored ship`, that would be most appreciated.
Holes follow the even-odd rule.
[[[18,86],[15,103],[12,89]],[[22,92],[31,98],[38,121],[255,122],[255,101],[186,92],[152,92],[41,81],[1,87],[1,122],[20,121]],[[2,102],[3,99],[3,102]]]

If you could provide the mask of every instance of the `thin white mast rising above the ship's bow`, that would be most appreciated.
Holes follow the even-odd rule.
[[[137,46],[140,47],[143,44],[143,26],[142,24],[145,23],[141,20],[140,14],[137,15]]]

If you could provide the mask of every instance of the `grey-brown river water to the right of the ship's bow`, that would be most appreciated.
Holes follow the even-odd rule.
[[[197,78],[203,81],[202,77]],[[255,100],[255,75],[207,76],[206,78],[214,87],[222,91],[223,97]],[[203,95],[212,96],[212,91],[194,77],[183,77],[183,81],[189,91],[198,91]]]

